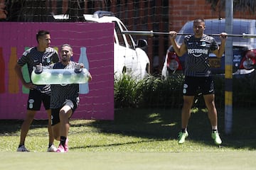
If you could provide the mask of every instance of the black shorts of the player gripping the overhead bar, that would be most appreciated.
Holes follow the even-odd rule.
[[[183,96],[214,94],[213,77],[185,77]]]

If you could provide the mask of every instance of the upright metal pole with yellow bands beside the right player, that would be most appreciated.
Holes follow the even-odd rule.
[[[233,0],[225,0],[225,31],[233,33]],[[228,37],[225,45],[225,133],[233,125],[233,40]]]

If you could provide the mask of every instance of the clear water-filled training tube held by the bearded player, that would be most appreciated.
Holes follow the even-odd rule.
[[[33,69],[33,84],[85,84],[89,80],[87,69]]]

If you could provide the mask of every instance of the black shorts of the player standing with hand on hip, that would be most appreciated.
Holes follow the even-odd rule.
[[[41,93],[36,89],[30,90],[28,95],[27,109],[30,111],[40,111],[43,102],[46,110],[50,109],[50,95]]]

